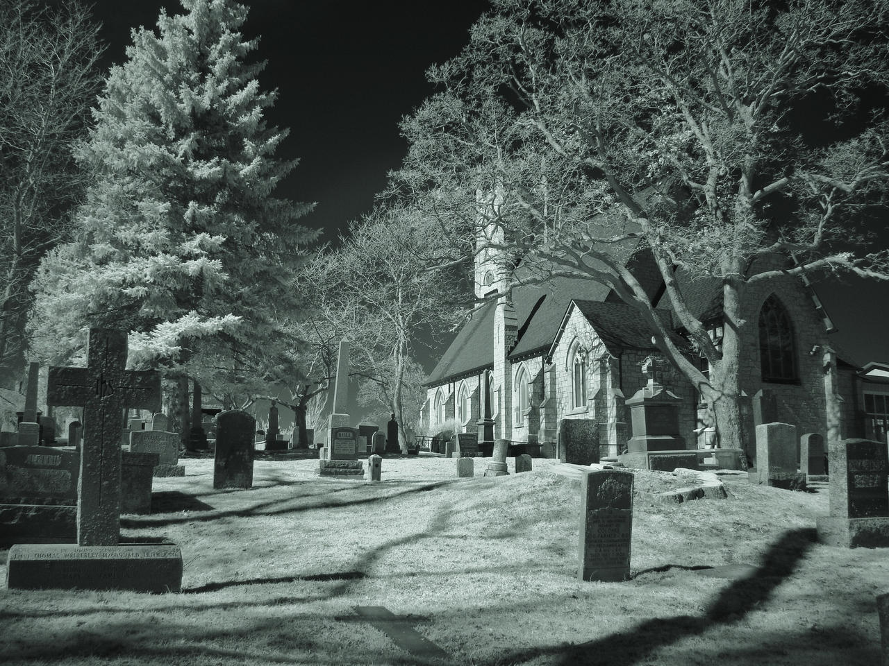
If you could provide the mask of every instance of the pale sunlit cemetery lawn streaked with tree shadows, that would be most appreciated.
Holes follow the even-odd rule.
[[[180,594],[0,591],[4,664],[413,664],[355,607],[411,616],[453,664],[873,666],[889,549],[815,543],[827,488],[734,481],[725,500],[636,473],[633,578],[581,583],[580,485],[534,471],[457,480],[435,456],[383,460],[383,481],[258,460],[252,490],[213,490],[212,460],[156,479],[122,537],[182,550]],[[509,459],[509,471],[514,461]],[[5,563],[5,551],[0,559]],[[692,567],[756,567],[717,578]],[[726,574],[730,575],[730,574]],[[343,618],[347,618],[344,620]]]

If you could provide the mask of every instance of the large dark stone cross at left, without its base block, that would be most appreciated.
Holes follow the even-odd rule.
[[[50,368],[46,402],[84,408],[77,544],[116,545],[120,538],[121,414],[158,409],[160,373],[124,369],[126,333],[91,329],[86,368]]]

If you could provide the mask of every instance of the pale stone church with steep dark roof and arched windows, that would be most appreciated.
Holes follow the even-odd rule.
[[[625,265],[664,321],[676,321],[650,250],[629,252]],[[499,266],[491,252],[476,259],[476,297],[494,298],[473,313],[428,376],[421,413],[426,432],[453,429],[477,433],[480,443],[542,444],[557,440],[561,419],[582,418],[596,422],[603,456],[623,453],[633,436],[625,402],[645,386],[645,359],[660,354],[642,316],[604,285],[579,278],[517,287],[510,299]],[[687,284],[693,314],[718,341],[718,281]],[[833,324],[812,287],[789,276],[765,281],[748,290],[743,305],[749,322],[741,355],[744,448],[755,451],[754,427],[764,419],[795,424],[798,434],[817,432],[827,440],[823,349],[837,348],[831,343]],[[673,329],[682,342],[683,331]],[[706,361],[698,362],[706,371]],[[875,436],[866,432],[866,423],[873,431],[886,416],[865,408],[889,406],[889,382],[865,377],[838,349],[827,372],[840,398],[841,436]],[[677,434],[684,448],[718,446],[712,410],[693,385],[676,370],[663,385],[681,400]],[[885,438],[885,430],[877,435]]]

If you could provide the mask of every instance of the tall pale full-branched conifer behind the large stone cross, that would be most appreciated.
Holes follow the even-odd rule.
[[[34,283],[45,361],[76,359],[91,326],[124,327],[143,363],[237,382],[295,305],[289,276],[316,232],[294,223],[310,204],[273,194],[297,161],[275,157],[288,131],[267,124],[265,63],[246,62],[258,44],[240,32],[247,8],[182,4],[156,32],[132,31],[93,110],[80,236]]]

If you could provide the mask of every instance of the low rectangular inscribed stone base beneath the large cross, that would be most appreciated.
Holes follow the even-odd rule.
[[[173,544],[16,544],[6,562],[10,590],[178,592],[182,552]]]

